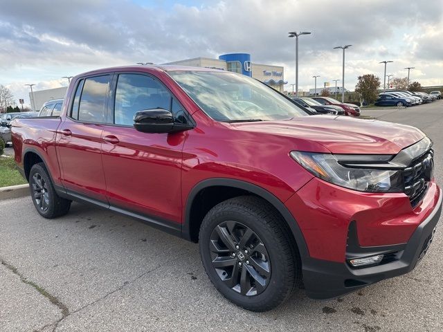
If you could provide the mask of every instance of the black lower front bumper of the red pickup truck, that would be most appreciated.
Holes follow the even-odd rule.
[[[383,279],[404,275],[413,270],[417,265],[417,261],[423,257],[429,244],[431,244],[435,227],[442,212],[442,199],[440,190],[440,196],[434,210],[417,226],[407,243],[396,246],[361,248],[363,254],[371,252],[369,255],[396,250],[399,256],[395,261],[368,268],[354,269],[350,268],[347,263],[306,257],[302,262],[302,273],[307,295],[314,299],[337,297]]]

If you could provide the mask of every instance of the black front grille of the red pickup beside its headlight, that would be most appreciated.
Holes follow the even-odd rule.
[[[431,149],[404,169],[404,192],[409,196],[413,208],[422,201],[428,190],[429,181],[433,177],[433,158],[434,151]]]

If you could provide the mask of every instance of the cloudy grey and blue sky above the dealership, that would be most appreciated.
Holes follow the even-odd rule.
[[[442,0],[1,0],[0,84],[29,103],[35,91],[66,86],[63,76],[108,66],[162,64],[224,53],[250,53],[252,62],[284,66],[299,89],[341,79],[387,74],[422,86],[443,85]],[[341,84],[341,82],[338,82]],[[291,90],[291,86],[285,86]]]

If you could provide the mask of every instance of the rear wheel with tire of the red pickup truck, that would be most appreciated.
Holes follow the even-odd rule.
[[[71,201],[57,195],[44,163],[30,169],[29,188],[35,209],[44,218],[53,219],[69,212]]]

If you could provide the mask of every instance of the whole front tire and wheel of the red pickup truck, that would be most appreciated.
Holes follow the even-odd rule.
[[[300,256],[289,234],[272,205],[260,198],[239,196],[219,203],[206,214],[200,228],[206,274],[238,306],[271,310],[288,299],[302,279]],[[235,248],[236,244],[241,248]]]

